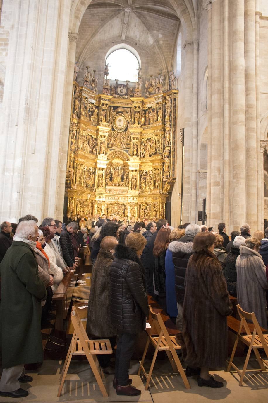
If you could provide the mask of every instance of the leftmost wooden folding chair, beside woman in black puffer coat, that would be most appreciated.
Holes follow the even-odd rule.
[[[113,350],[110,341],[89,340],[88,335],[86,334],[86,330],[84,329],[81,319],[78,316],[78,312],[75,306],[72,307],[71,320],[74,326],[74,334],[72,337],[68,353],[65,358],[65,362],[61,371],[61,376],[59,378],[61,383],[59,385],[57,397],[61,395],[61,390],[63,388],[65,377],[67,375],[68,368],[73,355],[86,355],[88,363],[92,369],[92,372],[96,378],[96,381],[102,393],[102,396],[108,397],[108,393],[102,382],[102,379],[104,379],[104,374],[102,372],[102,369],[100,368],[96,355],[112,354]]]

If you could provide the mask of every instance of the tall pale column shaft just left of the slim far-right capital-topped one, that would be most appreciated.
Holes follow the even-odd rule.
[[[256,70],[255,70],[255,0],[245,0],[245,145],[246,145],[246,221],[253,231],[257,224],[257,145]]]

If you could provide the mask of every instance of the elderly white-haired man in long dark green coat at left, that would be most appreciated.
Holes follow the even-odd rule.
[[[24,375],[24,364],[43,361],[41,300],[47,296],[33,249],[38,236],[35,221],[22,221],[12,246],[0,266],[0,343],[2,378],[0,396],[25,397],[20,382],[31,382]]]

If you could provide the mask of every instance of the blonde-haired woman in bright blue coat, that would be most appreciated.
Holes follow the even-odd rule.
[[[169,241],[178,241],[185,235],[185,229],[175,228],[169,235]],[[172,251],[166,251],[165,258],[165,272],[166,272],[166,308],[169,316],[176,318],[178,316],[176,291],[175,291],[175,268],[172,260]]]

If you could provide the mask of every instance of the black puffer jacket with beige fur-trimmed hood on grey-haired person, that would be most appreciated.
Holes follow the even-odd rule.
[[[184,235],[179,241],[173,241],[168,245],[168,249],[172,252],[172,261],[175,269],[175,290],[177,302],[184,301],[184,278],[186,267],[190,256],[194,253],[192,235]]]

